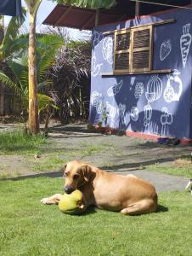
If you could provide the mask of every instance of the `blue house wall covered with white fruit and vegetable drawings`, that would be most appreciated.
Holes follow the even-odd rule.
[[[172,74],[134,74],[102,77],[113,69],[112,35],[102,32],[176,19],[155,26],[153,69]],[[140,17],[93,30],[92,80],[89,122],[124,131],[163,137],[192,138],[192,11],[174,10]]]

